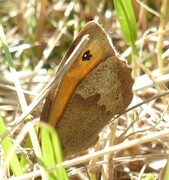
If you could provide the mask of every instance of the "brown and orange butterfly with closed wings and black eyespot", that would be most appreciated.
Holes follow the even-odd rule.
[[[133,97],[131,69],[95,22],[81,30],[60,68],[87,34],[87,46],[47,96],[41,114],[42,121],[56,128],[65,157],[94,145],[102,128],[124,112]]]

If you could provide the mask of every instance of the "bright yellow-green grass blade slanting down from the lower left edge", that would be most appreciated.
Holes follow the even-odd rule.
[[[3,123],[2,118],[0,117],[0,136],[3,135],[3,133],[6,132],[6,128],[5,125]],[[19,159],[16,155],[16,152],[14,150],[14,146],[12,144],[11,139],[9,138],[9,136],[7,136],[2,142],[1,142],[2,148],[4,150],[4,153],[7,157],[7,160],[9,161],[9,166],[11,171],[13,172],[13,174],[15,176],[20,176],[23,175],[23,170],[22,167],[19,163]],[[13,151],[13,152],[11,152]]]

